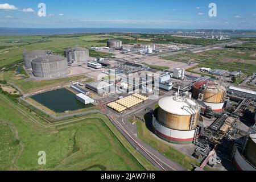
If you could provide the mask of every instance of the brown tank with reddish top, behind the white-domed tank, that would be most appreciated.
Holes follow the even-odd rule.
[[[192,97],[201,101],[201,109],[211,107],[215,112],[221,112],[224,107],[226,89],[213,81],[200,81],[192,86]]]

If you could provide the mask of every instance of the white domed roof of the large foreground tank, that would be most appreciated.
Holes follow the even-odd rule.
[[[191,111],[188,107],[195,106],[193,111]],[[196,102],[184,98],[184,97],[177,97],[177,96],[171,96],[171,97],[164,97],[159,101],[159,107],[163,109],[164,111],[176,114],[176,115],[191,115],[199,113],[200,107],[197,106]]]

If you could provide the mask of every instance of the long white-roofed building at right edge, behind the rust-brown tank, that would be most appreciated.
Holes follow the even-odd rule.
[[[247,90],[247,89],[230,86],[228,89],[228,93],[238,97],[250,98],[256,101],[256,92],[253,90]]]

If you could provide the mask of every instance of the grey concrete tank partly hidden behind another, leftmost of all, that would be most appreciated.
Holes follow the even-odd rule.
[[[26,68],[32,68],[32,65],[31,65],[32,60],[40,56],[45,56],[49,54],[50,52],[43,51],[43,50],[34,50],[34,51],[24,52],[23,53],[24,66]]]

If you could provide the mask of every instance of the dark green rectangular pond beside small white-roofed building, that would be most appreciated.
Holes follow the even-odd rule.
[[[65,88],[37,94],[31,98],[56,113],[64,113],[65,111],[85,109],[93,106],[92,104],[84,105],[80,101],[77,101],[76,95]]]

